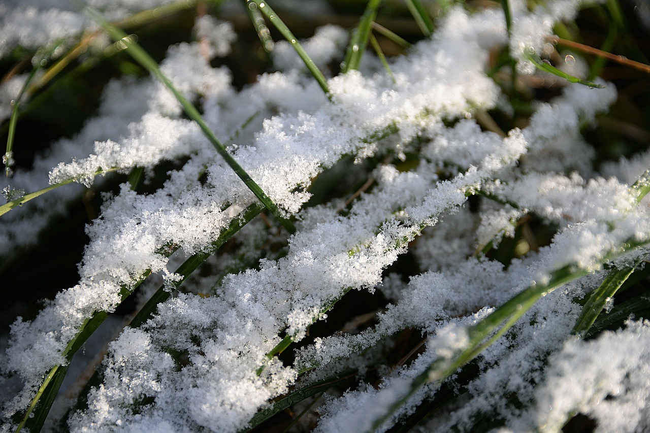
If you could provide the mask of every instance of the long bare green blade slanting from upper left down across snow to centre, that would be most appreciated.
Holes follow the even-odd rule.
[[[158,65],[156,64],[155,60],[151,59],[151,56],[142,49],[138,44],[135,44],[129,36],[115,27],[114,25],[110,24],[108,21],[104,20],[98,12],[96,12],[92,8],[86,8],[86,11],[88,14],[107,31],[107,33],[110,34],[110,36],[117,42],[117,41],[122,41],[123,44],[126,46],[126,52],[133,57],[138,63],[140,63],[146,70],[148,70],[152,75],[154,75],[159,81],[161,81],[162,84],[164,84],[171,92],[174,94],[175,98],[179,103],[181,104],[181,107],[183,107],[183,111],[185,111],[185,114],[187,116],[194,120],[196,124],[199,125],[201,128],[201,131],[203,131],[203,134],[205,137],[208,138],[208,140],[213,144],[214,148],[216,151],[221,155],[221,157],[226,161],[228,166],[233,169],[235,174],[242,179],[242,181],[246,184],[248,189],[250,189],[253,194],[255,194],[255,197],[262,202],[266,209],[268,209],[274,217],[276,217],[279,222],[289,231],[289,233],[294,233],[296,231],[296,228],[292,224],[291,221],[287,220],[286,218],[282,217],[279,213],[278,206],[276,203],[274,203],[266,193],[253,181],[252,177],[240,166],[240,164],[237,162],[237,160],[226,150],[226,147],[216,138],[216,135],[214,135],[213,131],[210,129],[210,127],[205,123],[203,118],[201,117],[201,114],[198,112],[196,107],[190,103],[190,101],[185,98],[179,92],[177,88],[175,88],[174,84],[168,79],[164,73],[158,68]]]

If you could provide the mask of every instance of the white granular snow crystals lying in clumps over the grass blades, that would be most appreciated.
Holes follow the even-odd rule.
[[[523,1],[510,3],[515,21],[509,49],[522,70],[526,56],[543,49],[552,25],[573,18],[582,4],[559,0],[528,10]],[[121,2],[108,18],[130,7]],[[61,23],[68,26],[66,35],[87,25],[63,2],[33,6],[31,12],[18,5],[2,8],[18,21],[31,16],[33,22],[25,22],[32,26],[48,17],[58,20],[23,42],[10,33],[7,47],[53,42],[61,37]],[[3,25],[10,29],[8,21]],[[469,14],[451,8],[431,38],[391,60],[395,81],[386,73],[350,71],[328,79],[330,99],[305,73],[289,42],[276,44],[278,72],[235,90],[231,72],[211,64],[229,53],[235,40],[231,25],[203,16],[194,34],[196,42],[169,47],[162,72],[200,107],[227,151],[281,213],[296,218],[298,231],[287,239],[283,231],[253,223],[240,233],[239,247],[209,261],[216,276],[195,276],[190,293],[176,293],[142,327],[127,328],[110,344],[103,382],[90,391],[88,408],[72,411],[71,430],[237,431],[292,386],[309,386],[346,369],[359,377],[374,369],[382,379],[377,387],[362,385],[327,397],[317,430],[346,432],[351,425],[387,430],[436,397],[435,374],[418,389],[413,381],[432,365],[452,365],[472,344],[469,326],[567,267],[589,274],[545,293],[487,347],[471,366],[478,373],[465,385],[452,386],[463,397],[443,408],[426,429],[473,431],[476,419],[489,413],[505,428],[555,431],[577,411],[597,419],[603,431],[647,425],[647,408],[634,402],[647,397],[648,386],[629,379],[636,374],[629,360],[642,360],[645,352],[638,348],[629,358],[623,355],[634,345],[630,335],[647,334],[647,324],[630,322],[627,330],[590,342],[570,337],[580,313],[575,299],[604,280],[604,264],[629,265],[647,254],[630,245],[650,241],[649,210],[644,203],[637,206],[629,190],[634,178],[628,176],[647,168],[647,155],[604,164],[599,176],[593,151],[580,134],[616,99],[613,86],[566,85],[560,96],[533,106],[527,125],[502,136],[485,131],[474,118],[476,111],[508,109],[486,71],[489,52],[508,44],[499,9]],[[326,67],[341,59],[347,40],[346,31],[326,26],[303,46]],[[0,92],[9,98],[12,86]],[[415,164],[409,161],[414,154]],[[317,194],[309,189],[313,179],[337,173],[348,157],[356,163],[348,172],[360,181],[369,178],[370,187],[350,202],[335,199],[305,208]],[[255,202],[197,125],[183,116],[174,96],[153,78],[113,81],[98,117],[12,179],[14,189],[36,190],[45,186],[44,173],[51,170],[50,183],[89,186],[98,174],[136,167],[151,172],[164,161],[183,164],[168,173],[160,189],[136,194],[122,185],[105,195],[99,217],[86,229],[90,242],[79,265],[79,284],[59,293],[32,321],[18,319],[12,326],[2,373],[18,376],[23,387],[3,400],[3,419],[29,406],[42,376],[66,363],[66,346],[94,311],[114,311],[120,293],[131,291],[149,272],[162,276],[167,289],[174,287],[181,278],[174,267],[182,257],[212,252],[214,241]],[[473,211],[467,202],[476,193],[494,200],[482,200]],[[3,254],[33,242],[34,229],[63,212],[63,202],[75,194],[61,188],[30,202],[29,213],[11,213],[0,231]],[[550,244],[507,264],[486,257],[484,252],[515,236],[528,214],[554,228]],[[273,250],[268,244],[274,242],[283,246]],[[260,243],[266,256],[254,250]],[[173,250],[179,252],[170,257]],[[408,252],[419,267],[409,281],[386,274]],[[349,291],[376,289],[391,303],[373,326],[319,337],[296,350],[291,364],[267,356],[284,335],[304,339]],[[378,365],[385,361],[383,351],[406,330],[422,334],[421,353],[396,369]],[[580,377],[587,385],[564,400],[563,387],[573,383],[566,372],[576,364],[592,365],[612,347],[621,354],[610,357],[617,375],[598,382],[603,373],[585,369]],[[606,398],[616,397],[621,387],[629,399],[627,394]],[[607,419],[616,411],[629,413],[627,425]]]

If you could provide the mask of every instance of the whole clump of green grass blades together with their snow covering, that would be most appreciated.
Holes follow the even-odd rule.
[[[426,35],[412,45],[373,22],[379,1],[352,31],[304,40],[281,19],[335,5],[44,3],[0,6],[0,56],[34,56],[33,74],[0,84],[3,119],[57,73],[116,56],[123,75],[31,163],[14,166],[25,143],[9,139],[8,263],[107,192],[79,282],[6,337],[2,431],[559,431],[578,414],[650,429],[649,306],[633,284],[650,157],[598,157],[585,132],[616,85],[548,61],[582,1],[469,2],[431,21],[437,3],[409,0]],[[138,25],[187,10],[192,40],[155,64]],[[247,16],[268,70],[242,86]],[[133,303],[119,335],[99,327]],[[98,373],[61,387],[98,327]]]

